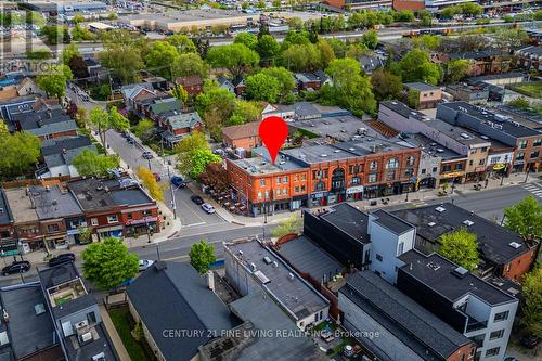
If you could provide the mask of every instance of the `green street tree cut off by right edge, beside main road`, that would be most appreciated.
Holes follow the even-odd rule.
[[[529,195],[514,206],[504,208],[504,227],[522,236],[542,236],[542,205]]]

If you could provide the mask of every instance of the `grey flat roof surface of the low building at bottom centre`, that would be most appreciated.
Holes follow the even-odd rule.
[[[258,278],[261,287],[266,288],[275,300],[280,301],[285,311],[295,320],[307,318],[328,306],[327,299],[258,241],[224,243],[224,247],[236,258],[240,252],[243,252],[242,260],[237,258],[237,261],[244,265],[247,270],[250,270],[250,263],[256,266],[256,270],[260,271],[258,274],[261,274],[261,278]],[[263,257],[268,257],[271,262],[266,262]],[[276,262],[276,267],[273,262]],[[293,280],[289,274],[294,275]]]

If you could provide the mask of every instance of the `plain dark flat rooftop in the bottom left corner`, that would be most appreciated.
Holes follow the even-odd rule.
[[[10,343],[17,360],[59,344],[39,283],[2,289],[0,297],[10,317]]]

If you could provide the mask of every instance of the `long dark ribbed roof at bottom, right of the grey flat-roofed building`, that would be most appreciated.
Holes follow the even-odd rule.
[[[472,343],[372,271],[352,274],[339,292],[424,360],[448,359]],[[387,337],[369,338],[367,341],[373,344],[372,349],[376,348],[377,353],[389,359],[398,352]]]

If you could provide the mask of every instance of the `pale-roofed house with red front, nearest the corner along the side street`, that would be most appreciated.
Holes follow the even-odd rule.
[[[165,146],[173,147],[183,137],[196,130],[202,130],[204,125],[197,112],[177,113],[166,112],[159,116],[158,125],[162,129],[162,141]]]

